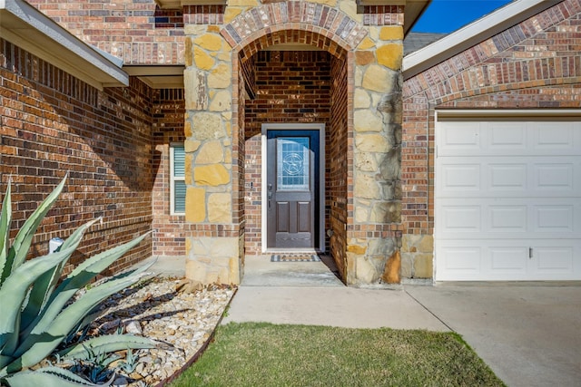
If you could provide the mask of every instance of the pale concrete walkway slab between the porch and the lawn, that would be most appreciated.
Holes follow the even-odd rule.
[[[445,324],[402,290],[356,289],[346,286],[242,285],[222,324],[250,321],[448,331]]]

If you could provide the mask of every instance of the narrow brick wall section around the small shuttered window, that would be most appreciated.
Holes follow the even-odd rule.
[[[153,256],[185,256],[183,215],[171,215],[170,146],[183,143],[183,89],[153,91]]]

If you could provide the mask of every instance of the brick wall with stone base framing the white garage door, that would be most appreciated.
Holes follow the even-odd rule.
[[[402,276],[433,276],[435,109],[579,108],[580,47],[566,0],[404,82]]]

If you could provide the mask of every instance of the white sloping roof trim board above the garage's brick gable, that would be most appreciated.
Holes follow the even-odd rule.
[[[429,44],[404,57],[402,65],[404,79],[409,79],[438,63],[442,63],[469,47],[479,44],[561,1],[515,0],[508,3],[497,11],[448,34],[438,42]]]

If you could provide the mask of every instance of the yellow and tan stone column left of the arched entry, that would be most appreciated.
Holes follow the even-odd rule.
[[[231,47],[216,25],[185,28],[186,277],[239,284],[239,227],[232,219]]]

